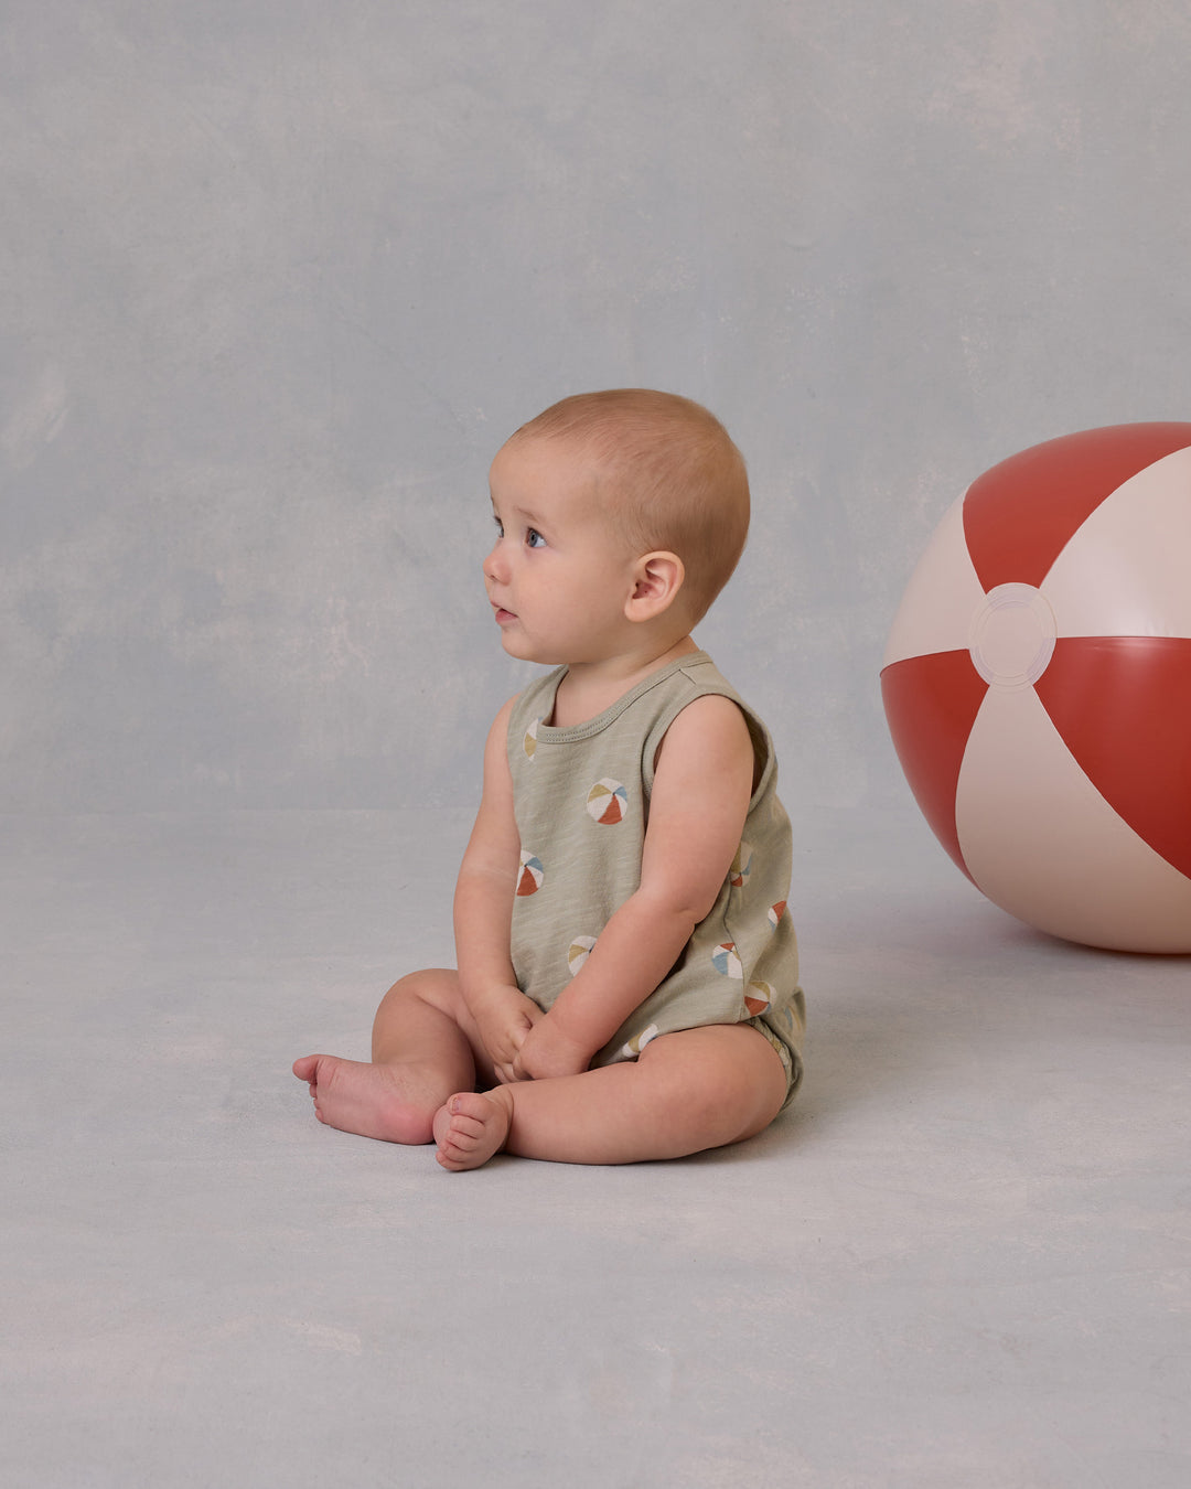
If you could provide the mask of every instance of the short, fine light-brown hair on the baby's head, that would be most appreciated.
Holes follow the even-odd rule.
[[[554,404],[512,436],[521,439],[569,439],[588,456],[613,530],[639,554],[682,558],[680,602],[694,625],[749,535],[744,457],[715,414],[677,393],[607,389]]]

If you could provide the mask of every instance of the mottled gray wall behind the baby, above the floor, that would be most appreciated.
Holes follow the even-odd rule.
[[[1188,57],[1163,0],[9,0],[0,809],[472,792],[488,459],[637,383],[749,457],[701,639],[783,794],[901,792],[936,517],[1190,417]]]

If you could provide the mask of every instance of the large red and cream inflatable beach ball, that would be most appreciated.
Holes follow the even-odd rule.
[[[1191,951],[1191,424],[1053,439],[945,514],[886,718],[975,886],[1051,935]]]

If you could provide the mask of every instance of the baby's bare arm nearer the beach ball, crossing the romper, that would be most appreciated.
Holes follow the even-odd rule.
[[[724,887],[752,789],[744,715],[729,698],[695,700],[670,725],[658,755],[640,886],[526,1035],[514,1060],[517,1077],[585,1071],[662,981]]]

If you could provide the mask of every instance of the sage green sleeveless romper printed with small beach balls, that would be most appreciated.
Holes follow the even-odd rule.
[[[575,728],[543,721],[566,667],[531,683],[509,719],[508,755],[521,867],[512,916],[518,986],[551,1007],[612,914],[640,884],[654,759],[695,698],[718,694],[743,712],[759,779],[740,852],[712,913],[662,983],[591,1062],[633,1060],[660,1033],[752,1023],[777,1050],[789,1093],[802,1075],[805,1027],[798,944],[786,898],[791,825],[777,800],[768,731],[706,652],[661,667],[604,713]]]

